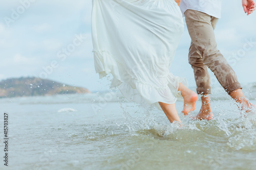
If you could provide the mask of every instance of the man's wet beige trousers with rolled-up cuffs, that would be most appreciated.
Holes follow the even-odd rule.
[[[194,69],[198,94],[210,94],[210,76],[207,67],[214,72],[228,94],[242,88],[236,73],[217,49],[214,29],[218,18],[189,9],[184,14],[191,37],[188,60]]]

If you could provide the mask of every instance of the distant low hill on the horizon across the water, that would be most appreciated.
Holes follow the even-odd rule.
[[[35,77],[13,78],[0,82],[0,98],[88,92],[89,90],[86,88],[64,85],[63,83]]]

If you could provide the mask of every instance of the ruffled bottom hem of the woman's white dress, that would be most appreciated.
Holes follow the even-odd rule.
[[[100,78],[108,74],[112,74],[112,86],[117,87],[125,99],[136,103],[149,103],[161,109],[158,102],[174,104],[177,99],[183,100],[180,91],[178,91],[179,83],[188,86],[185,78],[174,76],[171,72],[166,76],[166,84],[161,87],[152,86],[148,83],[136,80],[132,75],[125,74],[121,76],[120,72],[124,72],[121,63],[118,63],[114,57],[105,50],[93,51],[96,73]],[[154,97],[152,97],[154,96]]]

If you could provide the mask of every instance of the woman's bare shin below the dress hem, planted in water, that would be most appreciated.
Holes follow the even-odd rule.
[[[175,104],[166,104],[162,102],[158,102],[161,108],[163,109],[163,112],[169,119],[170,123],[173,123],[174,121],[181,122],[180,117],[178,115],[178,112],[176,110]]]

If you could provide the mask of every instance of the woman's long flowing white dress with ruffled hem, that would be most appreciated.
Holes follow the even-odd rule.
[[[183,29],[174,0],[93,0],[96,72],[111,73],[127,100],[174,104],[179,83],[187,86],[169,72]]]

